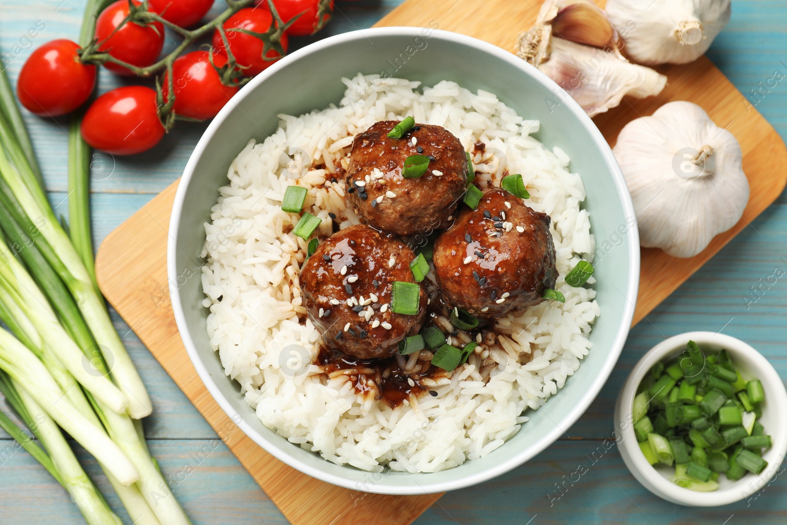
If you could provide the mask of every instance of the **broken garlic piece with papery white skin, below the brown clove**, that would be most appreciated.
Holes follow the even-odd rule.
[[[554,36],[549,25],[520,35],[517,56],[536,66],[574,98],[589,116],[614,108],[626,94],[659,94],[667,77],[631,64],[612,49],[583,46]]]

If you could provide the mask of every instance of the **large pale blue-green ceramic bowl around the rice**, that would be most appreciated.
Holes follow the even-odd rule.
[[[224,375],[205,332],[199,255],[209,210],[227,167],[249,139],[275,131],[279,113],[300,115],[338,103],[342,77],[399,76],[430,86],[454,80],[471,91],[497,96],[527,119],[541,121],[536,137],[571,157],[587,190],[596,238],[596,278],[601,316],[593,349],[565,388],[504,446],[478,460],[434,474],[388,471],[370,475],[340,467],[287,442],[264,427]],[[552,80],[496,46],[446,31],[378,28],[322,40],[283,58],[253,79],[212,121],[183,173],[169,226],[168,274],[172,307],[183,343],[202,381],[243,432],[279,460],[315,478],[382,494],[428,494],[470,486],[523,464],[552,444],[585,412],[607,380],[626,341],[639,279],[639,240],[623,175],[593,122]],[[195,272],[195,273],[194,273]],[[189,277],[190,275],[196,277]]]

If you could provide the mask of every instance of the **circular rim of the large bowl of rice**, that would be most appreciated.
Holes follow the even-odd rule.
[[[204,153],[205,147],[212,140],[216,130],[219,128],[220,124],[224,121],[227,115],[229,115],[238,105],[238,102],[243,98],[246,98],[246,96],[248,96],[257,86],[259,86],[269,77],[275,75],[276,72],[279,72],[279,70],[285,68],[287,65],[294,63],[301,57],[312,54],[318,50],[322,50],[323,48],[331,47],[341,43],[352,42],[353,40],[365,40],[370,35],[415,37],[420,35],[421,31],[424,31],[424,28],[386,27],[349,31],[342,33],[341,35],[334,35],[316,43],[312,43],[309,46],[305,46],[300,50],[296,50],[292,54],[286,55],[286,57],[283,57],[281,60],[276,61],[272,66],[265,69],[264,72],[260,73],[260,75],[254,77],[249,83],[246,84],[246,86],[242,87],[242,89],[238,91],[238,93],[235,94],[233,98],[231,98],[227,105],[224,105],[224,108],[220,110],[216,117],[213,118],[212,122],[201,136],[197,146],[194,148],[194,151],[191,153],[186,168],[184,168],[183,176],[180,179],[178,185],[175,201],[172,206],[172,216],[170,217],[169,222],[168,231],[170,234],[168,235],[167,246],[167,272],[169,283],[171,283],[170,298],[172,302],[172,311],[175,315],[180,337],[183,340],[183,346],[186,347],[191,363],[194,364],[194,368],[196,368],[202,383],[205,384],[205,387],[208,389],[213,399],[216,400],[216,403],[218,403],[227,416],[229,416],[231,420],[235,422],[238,428],[240,428],[240,430],[246,434],[246,436],[251,438],[253,442],[261,446],[266,452],[270,453],[276,459],[283,461],[283,463],[289,465],[290,467],[295,468],[297,471],[301,471],[307,475],[312,476],[313,478],[320,479],[321,481],[329,482],[333,485],[342,486],[351,490],[359,490],[357,482],[354,482],[350,479],[345,479],[340,475],[333,475],[326,471],[320,470],[320,468],[314,468],[309,464],[305,464],[304,462],[301,462],[301,460],[298,460],[297,458],[290,456],[290,454],[279,449],[279,446],[272,443],[263,435],[257,433],[257,431],[254,431],[253,428],[250,427],[248,423],[246,423],[242,416],[240,416],[240,414],[238,414],[238,412],[232,408],[230,401],[227,400],[227,397],[224,397],[224,394],[221,393],[218,386],[216,385],[215,380],[208,372],[208,369],[205,368],[205,364],[202,363],[197,347],[194,345],[194,340],[191,338],[187,326],[185,312],[181,303],[179,287],[172,286],[172,283],[177,283],[177,279],[173,280],[173,276],[177,275],[176,255],[178,246],[176,232],[179,230],[180,216],[183,213],[183,207],[185,205],[187,187],[189,186],[190,180],[194,175],[194,168],[196,167],[202,153]],[[618,198],[623,208],[623,216],[626,218],[626,220],[635,220],[634,205],[631,201],[628,187],[626,187],[626,181],[623,178],[623,172],[621,172],[610,146],[604,139],[604,136],[601,135],[601,132],[598,130],[596,125],[593,124],[593,120],[587,116],[585,111],[580,107],[580,105],[578,105],[577,102],[575,102],[573,98],[571,98],[570,95],[563,91],[563,89],[554,83],[552,79],[549,79],[549,77],[544,73],[538,71],[537,68],[534,68],[526,61],[523,61],[521,58],[516,57],[514,54],[502,49],[501,47],[494,46],[493,44],[486,43],[482,40],[475,39],[467,35],[461,35],[460,33],[455,33],[452,31],[440,29],[431,29],[430,31],[433,31],[433,35],[431,37],[433,39],[442,39],[448,41],[449,43],[474,46],[486,54],[493,55],[502,61],[506,61],[515,68],[523,70],[523,72],[525,72],[527,75],[534,77],[534,79],[538,80],[539,83],[543,84],[553,93],[556,93],[557,96],[559,96],[563,101],[563,104],[565,104],[567,108],[571,110],[571,113],[574,113],[578,120],[580,120],[585,131],[589,134],[590,138],[595,143],[595,146],[600,151],[601,156],[604,158],[606,165],[605,167],[608,169],[608,172],[615,183]],[[622,293],[626,302],[623,305],[623,315],[621,316],[619,327],[615,333],[614,340],[611,342],[610,352],[600,370],[600,373],[595,377],[595,379],[593,379],[593,383],[591,383],[586,394],[582,396],[582,399],[580,399],[575,407],[571,409],[570,412],[568,412],[567,416],[565,416],[563,420],[557,423],[551,431],[545,434],[533,445],[523,449],[521,452],[511,457],[508,457],[499,464],[493,465],[491,468],[487,468],[484,471],[480,471],[471,475],[456,477],[445,482],[430,482],[426,479],[419,479],[419,482],[413,482],[412,476],[416,474],[410,474],[402,476],[402,481],[395,485],[380,485],[376,482],[364,484],[364,491],[376,494],[397,495],[434,494],[438,492],[445,492],[446,490],[457,490],[467,486],[476,485],[480,482],[492,479],[498,475],[502,475],[505,472],[518,467],[527,460],[530,460],[530,458],[536,456],[538,453],[541,453],[541,451],[555,442],[556,439],[559,438],[568,427],[571,427],[571,425],[573,425],[576,420],[582,416],[582,413],[586,411],[593,399],[595,399],[599,394],[601,387],[604,386],[604,383],[606,383],[609,375],[612,372],[612,368],[615,367],[615,364],[620,357],[620,353],[623,351],[623,345],[626,342],[632,320],[634,319],[634,309],[637,301],[640,275],[639,233],[637,228],[628,228],[626,238],[629,242],[628,257],[630,260],[629,275],[627,279],[628,293]],[[224,377],[226,378],[226,376]],[[277,438],[285,439],[282,437]],[[427,473],[419,473],[419,475],[427,475]]]

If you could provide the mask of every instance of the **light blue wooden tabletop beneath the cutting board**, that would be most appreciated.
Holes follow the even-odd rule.
[[[368,28],[400,2],[339,1],[334,21],[321,36]],[[76,39],[83,4],[84,0],[0,0],[0,59],[8,65],[12,79],[33,47],[50,39]],[[787,137],[784,0],[736,0],[733,10],[730,25],[716,39],[709,56],[781,136]],[[37,20],[39,28],[41,24],[45,27],[35,35],[31,28]],[[293,40],[293,47],[310,41]],[[101,89],[106,91],[122,82],[102,73]],[[55,211],[67,216],[67,121],[41,120],[29,114],[25,118]],[[97,245],[180,175],[204,128],[205,124],[180,125],[160,145],[139,156],[115,160],[100,154],[94,157],[91,203]],[[446,494],[416,523],[785,523],[785,475],[777,476],[748,501],[715,509],[683,508],[650,494],[626,470],[615,447],[604,445],[612,431],[612,407],[623,380],[641,355],[665,337],[683,331],[723,331],[750,342],[770,359],[782,378],[787,378],[787,279],[775,283],[768,279],[775,268],[781,268],[775,275],[787,271],[784,195],[631,331],[607,386],[567,434],[507,475]],[[127,324],[118,316],[114,320],[153,398],[154,416],[146,420],[150,448],[194,523],[286,523],[228,449],[216,446],[216,433]],[[81,457],[94,479],[106,488],[95,462],[83,452]],[[586,472],[579,476],[577,471]],[[110,503],[125,523],[130,523],[112,491],[105,494],[110,494]],[[83,523],[65,491],[2,431],[0,523]]]

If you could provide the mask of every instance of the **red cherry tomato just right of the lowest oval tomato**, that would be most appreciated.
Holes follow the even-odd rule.
[[[214,54],[213,64],[227,64],[225,54]],[[165,74],[162,80],[164,100],[168,100],[169,82]],[[172,89],[175,91],[175,113],[193,119],[209,119],[216,116],[224,104],[238,92],[237,87],[221,83],[219,73],[210,64],[208,51],[192,51],[178,57],[172,64]]]

